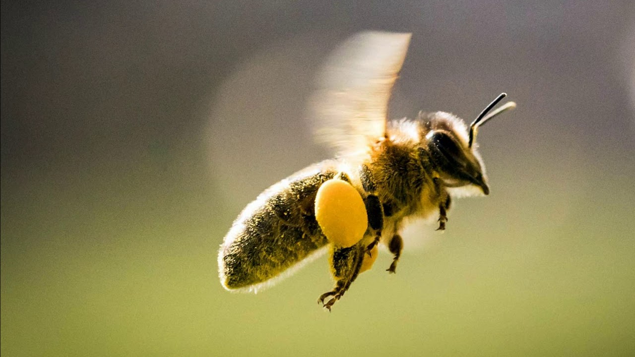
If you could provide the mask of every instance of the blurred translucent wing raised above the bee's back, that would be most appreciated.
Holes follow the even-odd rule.
[[[411,34],[361,32],[344,41],[318,77],[310,116],[316,140],[337,154],[368,150],[385,134],[392,85]]]

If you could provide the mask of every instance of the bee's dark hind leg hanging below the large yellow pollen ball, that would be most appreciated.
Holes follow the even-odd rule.
[[[351,283],[357,278],[365,252],[365,247],[361,243],[348,248],[333,246],[331,274],[335,278],[335,288],[330,292],[323,293],[318,299],[318,302],[324,304],[324,307],[329,311],[331,311],[331,306],[344,295]],[[326,298],[331,296],[332,298],[328,302],[324,302]]]

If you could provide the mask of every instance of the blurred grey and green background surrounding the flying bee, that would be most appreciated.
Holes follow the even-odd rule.
[[[632,1],[3,1],[3,356],[635,351]],[[413,32],[391,116],[471,120],[487,198],[408,230],[332,313],[326,257],[218,283],[240,210],[329,157],[305,120],[361,30]]]

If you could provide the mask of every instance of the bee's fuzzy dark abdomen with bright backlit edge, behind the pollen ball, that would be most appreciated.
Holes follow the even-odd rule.
[[[291,177],[248,205],[220,248],[221,283],[228,289],[264,283],[328,243],[315,219],[319,186],[335,171]]]

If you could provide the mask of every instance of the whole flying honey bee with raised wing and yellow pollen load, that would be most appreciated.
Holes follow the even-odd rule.
[[[227,290],[256,292],[328,251],[335,286],[318,301],[330,310],[370,269],[378,244],[392,253],[387,271],[395,273],[404,219],[438,217],[443,230],[452,196],[490,192],[476,134],[516,104],[491,111],[502,93],[469,128],[447,112],[387,121],[409,42],[410,34],[363,32],[331,56],[314,117],[316,137],[335,159],[281,180],[244,208],[218,253]]]

